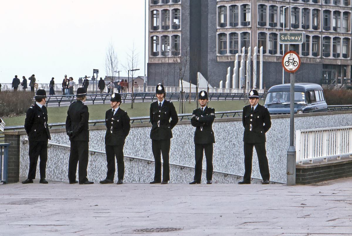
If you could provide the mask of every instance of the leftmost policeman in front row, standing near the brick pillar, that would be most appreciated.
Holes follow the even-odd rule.
[[[45,90],[38,89],[34,99],[36,103],[27,110],[24,123],[29,140],[29,172],[28,178],[22,183],[33,183],[33,179],[36,178],[38,157],[40,157],[39,183],[48,184],[48,181],[45,180],[45,168],[48,160],[48,139],[51,139],[51,137],[48,128],[48,110],[44,106],[46,103]]]

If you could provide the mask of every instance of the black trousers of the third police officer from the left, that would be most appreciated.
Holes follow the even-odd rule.
[[[115,157],[117,162],[117,177],[121,180],[124,179],[125,162],[124,162],[124,145],[105,145],[106,161],[108,172],[106,179],[114,180],[115,177]]]

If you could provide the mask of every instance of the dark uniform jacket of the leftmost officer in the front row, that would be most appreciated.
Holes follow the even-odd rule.
[[[24,128],[29,141],[48,141],[51,139],[48,128],[48,111],[34,103],[26,113]]]

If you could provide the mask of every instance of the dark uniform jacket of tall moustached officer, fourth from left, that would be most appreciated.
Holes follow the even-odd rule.
[[[150,123],[152,124],[152,129],[150,130],[151,139],[171,139],[171,129],[174,128],[177,122],[178,116],[172,102],[164,100],[161,109],[159,109],[159,101],[150,104]]]

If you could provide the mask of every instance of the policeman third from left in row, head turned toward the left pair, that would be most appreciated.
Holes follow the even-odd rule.
[[[130,132],[130,117],[127,112],[122,110],[119,106],[121,104],[121,95],[119,93],[113,93],[110,99],[109,109],[105,113],[105,152],[108,171],[106,179],[101,180],[101,184],[112,184],[114,183],[115,176],[115,157],[117,161],[117,173],[118,181],[117,184],[122,184],[125,173],[125,162],[124,162],[124,145],[125,139]]]

